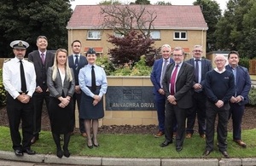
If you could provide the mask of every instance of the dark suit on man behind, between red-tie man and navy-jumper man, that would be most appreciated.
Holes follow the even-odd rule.
[[[195,60],[194,58],[191,58],[186,61],[190,65],[195,67]],[[205,77],[207,72],[212,70],[212,62],[211,60],[207,59],[201,59],[201,86],[202,90],[195,91],[195,89],[192,89],[193,93],[193,107],[189,109],[187,112],[187,134],[194,133],[194,125],[195,125],[195,117],[197,115],[197,122],[198,122],[198,132],[200,135],[204,135],[206,132],[206,103],[207,103],[207,95],[204,92],[204,86],[205,86]],[[198,81],[193,81],[193,86]]]

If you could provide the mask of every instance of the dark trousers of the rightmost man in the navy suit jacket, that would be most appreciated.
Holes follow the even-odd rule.
[[[230,103],[230,116],[233,124],[233,140],[241,140],[241,118],[245,106],[239,106],[237,103]]]

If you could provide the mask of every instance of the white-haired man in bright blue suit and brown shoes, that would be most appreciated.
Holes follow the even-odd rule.
[[[171,58],[171,51],[172,49],[169,44],[164,44],[161,47],[162,58],[154,61],[153,70],[150,74],[151,82],[154,85],[153,94],[159,128],[158,133],[154,135],[155,138],[165,134],[166,95],[161,81],[165,75],[166,66],[174,62]]]

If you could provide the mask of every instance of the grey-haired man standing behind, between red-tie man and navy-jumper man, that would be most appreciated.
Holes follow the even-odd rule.
[[[206,138],[206,103],[207,95],[204,92],[205,77],[207,72],[212,70],[212,62],[202,59],[201,45],[195,45],[193,49],[193,58],[186,62],[195,67],[193,81],[193,107],[187,112],[187,135],[191,138],[194,134],[195,117],[197,115],[198,132],[201,138]]]

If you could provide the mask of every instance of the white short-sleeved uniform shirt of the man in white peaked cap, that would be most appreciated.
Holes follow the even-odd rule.
[[[26,79],[27,94],[32,97],[36,89],[35,68],[33,63],[28,60],[23,59],[22,63]],[[4,89],[7,90],[14,99],[20,95],[20,60],[18,58],[15,57],[3,63],[3,85]]]

